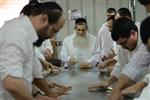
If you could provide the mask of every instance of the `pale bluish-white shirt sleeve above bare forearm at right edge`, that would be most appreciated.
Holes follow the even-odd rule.
[[[145,70],[150,64],[150,52],[147,47],[142,44],[129,63],[123,68],[122,74],[128,76],[133,81],[138,81]]]

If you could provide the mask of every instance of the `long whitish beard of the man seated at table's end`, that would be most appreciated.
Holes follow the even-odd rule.
[[[73,38],[73,45],[76,48],[80,48],[80,49],[87,49],[89,48],[89,39],[87,36],[78,36],[75,35],[75,37]]]

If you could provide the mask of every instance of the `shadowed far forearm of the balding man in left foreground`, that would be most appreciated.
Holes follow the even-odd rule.
[[[48,84],[44,78],[35,78],[33,83],[41,89],[47,96],[49,96],[50,88],[48,87]]]

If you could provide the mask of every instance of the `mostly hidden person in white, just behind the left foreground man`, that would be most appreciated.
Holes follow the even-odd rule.
[[[47,76],[50,73],[58,74],[60,69],[57,66],[51,64],[48,60],[53,58],[53,49],[50,39],[45,40],[41,46],[34,47],[35,56],[41,61],[43,66],[43,76]]]

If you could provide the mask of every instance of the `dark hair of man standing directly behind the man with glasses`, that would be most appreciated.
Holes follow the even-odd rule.
[[[132,19],[131,12],[128,8],[120,8],[117,13],[119,13],[121,17],[129,17]]]

